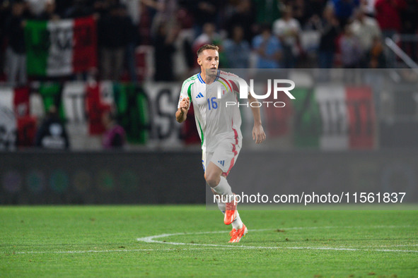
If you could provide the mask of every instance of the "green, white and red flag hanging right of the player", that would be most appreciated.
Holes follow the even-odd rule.
[[[318,85],[292,91],[294,143],[320,150],[373,149],[376,119],[370,87]]]

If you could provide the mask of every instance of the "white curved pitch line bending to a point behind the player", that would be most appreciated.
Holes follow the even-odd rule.
[[[378,227],[378,228],[400,228],[405,226],[368,226],[368,227]],[[296,229],[333,229],[333,228],[342,228],[338,226],[323,226],[323,227],[291,227],[291,228],[282,228],[286,230],[296,230]],[[345,226],[344,229],[351,227]],[[354,226],[353,226],[354,228]],[[356,226],[355,228],[361,228]],[[274,229],[253,229],[248,231],[274,231]],[[370,249],[370,248],[332,248],[332,247],[315,247],[315,246],[242,246],[242,245],[223,245],[223,244],[206,244],[206,243],[185,243],[185,242],[170,242],[170,241],[156,241],[154,238],[166,238],[169,236],[186,236],[190,234],[219,234],[227,233],[228,231],[200,231],[196,233],[175,233],[175,234],[159,234],[156,236],[146,236],[143,238],[137,238],[137,241],[143,241],[146,243],[161,243],[161,244],[170,244],[175,246],[207,246],[207,247],[218,247],[218,248],[243,248],[243,249],[308,249],[308,250],[344,250],[344,251],[379,251],[379,252],[407,252],[407,253],[418,253],[418,250],[393,250],[393,249]],[[390,247],[390,246],[387,246]],[[395,247],[395,246],[394,246]]]

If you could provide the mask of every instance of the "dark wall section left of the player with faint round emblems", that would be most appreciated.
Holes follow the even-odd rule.
[[[3,153],[0,204],[204,203],[198,152]]]

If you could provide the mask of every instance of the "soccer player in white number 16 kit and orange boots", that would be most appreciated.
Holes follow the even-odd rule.
[[[229,242],[239,242],[248,230],[236,210],[235,195],[226,176],[236,162],[243,136],[240,131],[241,116],[238,105],[226,104],[238,104],[238,80],[241,84],[245,81],[237,75],[218,70],[218,51],[219,48],[212,44],[205,44],[197,50],[200,73],[183,82],[175,118],[179,123],[185,121],[190,104],[194,104],[197,131],[202,140],[204,177],[212,192],[221,197],[217,199],[217,203],[224,214],[223,222],[233,226]],[[221,98],[218,97],[219,90]],[[248,94],[248,102],[255,101]],[[259,144],[265,140],[266,135],[261,124],[260,109],[251,109],[254,117],[252,139]]]

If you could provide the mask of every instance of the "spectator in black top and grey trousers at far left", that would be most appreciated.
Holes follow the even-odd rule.
[[[5,30],[8,39],[7,70],[8,83],[24,85],[27,82],[24,16],[26,4],[21,0],[13,1],[11,17],[8,18]]]

